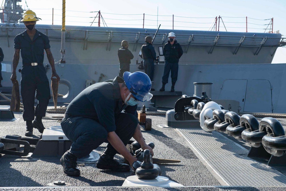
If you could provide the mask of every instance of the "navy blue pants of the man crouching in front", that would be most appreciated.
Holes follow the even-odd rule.
[[[137,117],[130,113],[119,113],[115,116],[115,124],[115,133],[127,145],[138,125]],[[89,155],[107,139],[106,129],[97,121],[85,117],[63,118],[61,128],[73,142],[71,152],[78,158]],[[114,155],[117,153],[110,143],[107,144],[107,149]]]

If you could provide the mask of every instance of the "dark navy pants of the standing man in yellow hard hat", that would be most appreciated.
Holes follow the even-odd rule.
[[[24,66],[21,70],[21,96],[23,100],[24,121],[45,117],[51,92],[47,71],[44,66]],[[38,100],[35,107],[35,94]]]

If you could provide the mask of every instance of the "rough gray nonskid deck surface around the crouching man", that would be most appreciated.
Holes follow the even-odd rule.
[[[7,134],[17,134],[24,137],[25,122],[22,113],[14,113],[17,120],[1,121],[0,136]],[[180,163],[159,164],[162,176],[182,184],[182,188],[146,188],[146,187],[121,187],[128,176],[134,175],[130,172],[111,172],[96,168],[96,161],[79,166],[80,177],[66,176],[59,163],[59,157],[48,159],[29,159],[13,155],[3,155],[0,158],[0,190],[285,190],[285,187],[243,187],[222,186],[219,176],[212,173],[212,169],[206,162],[197,157],[190,149],[190,143],[186,143],[184,138],[176,129],[161,128],[156,125],[165,123],[165,116],[147,116],[152,119],[152,130],[142,134],[146,142],[155,143],[154,157],[181,160]],[[55,120],[43,120],[44,126],[59,125]],[[34,130],[34,138],[38,138],[40,133]],[[212,134],[210,134],[212,136]],[[223,136],[222,139],[227,139]],[[232,142],[232,141],[231,141]],[[101,154],[106,147],[103,143],[96,149]],[[116,160],[123,161],[121,155],[116,155]],[[244,175],[243,175],[244,176]],[[277,175],[276,175],[277,176]],[[49,186],[48,183],[62,180],[69,183],[68,186]]]

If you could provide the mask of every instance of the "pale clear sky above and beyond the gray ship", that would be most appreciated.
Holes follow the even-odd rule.
[[[22,8],[33,10],[42,19],[37,23],[54,25],[61,25],[62,3],[61,0],[21,2]],[[246,32],[247,17],[247,32],[269,32],[273,18],[273,31],[279,31],[286,40],[285,10],[286,0],[66,0],[65,25],[98,26],[100,11],[105,21],[101,19],[101,27],[143,28],[144,17],[144,28],[157,28],[161,24],[160,29],[173,29],[174,15],[174,29],[214,30],[212,22],[221,16],[219,31]],[[286,63],[285,55],[286,48],[279,47],[272,63]]]

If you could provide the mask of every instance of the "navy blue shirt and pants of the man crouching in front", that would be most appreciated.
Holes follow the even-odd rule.
[[[119,82],[124,80],[117,76],[113,80],[93,84],[67,106],[61,127],[73,142],[70,151],[77,158],[88,155],[105,142],[109,132],[115,131],[124,145],[133,136],[139,123],[137,105],[122,105]],[[110,143],[107,149],[114,155],[117,153]]]

